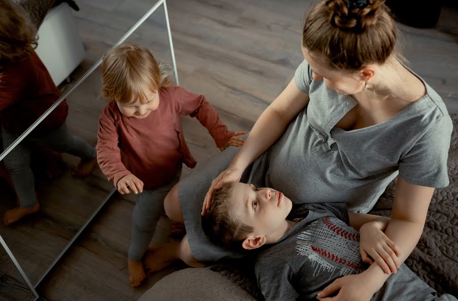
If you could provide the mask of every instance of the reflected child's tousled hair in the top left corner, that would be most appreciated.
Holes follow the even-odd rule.
[[[11,0],[0,0],[0,60],[20,59],[37,47],[37,40],[28,14]]]

